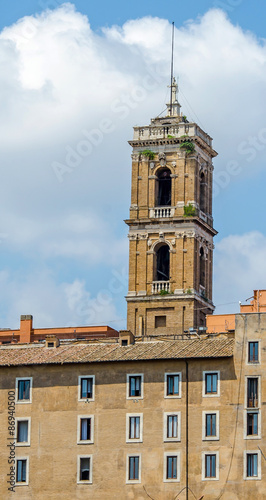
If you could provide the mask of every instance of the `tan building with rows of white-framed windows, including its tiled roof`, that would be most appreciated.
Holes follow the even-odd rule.
[[[264,499],[266,315],[235,324],[2,345],[0,498]]]

